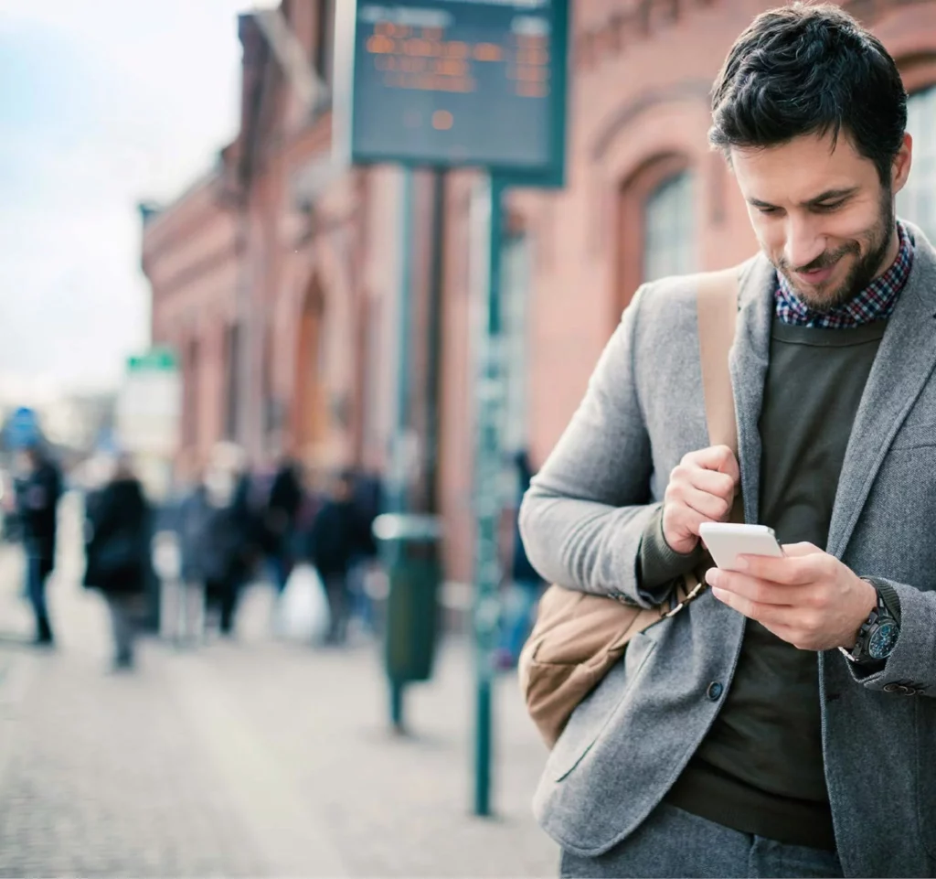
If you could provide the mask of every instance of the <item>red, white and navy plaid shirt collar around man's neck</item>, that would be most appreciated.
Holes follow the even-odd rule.
[[[813,311],[809,305],[800,302],[789,282],[778,272],[779,283],[774,294],[777,317],[782,323],[826,330],[845,330],[889,318],[914,264],[914,242],[899,220],[897,234],[900,246],[897,259],[891,267],[884,275],[871,281],[854,299],[831,311]]]

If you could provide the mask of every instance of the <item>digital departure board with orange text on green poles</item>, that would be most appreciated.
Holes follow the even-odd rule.
[[[358,0],[356,162],[562,176],[568,0]]]

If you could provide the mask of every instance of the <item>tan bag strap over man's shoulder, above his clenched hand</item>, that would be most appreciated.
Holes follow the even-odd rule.
[[[739,268],[700,275],[696,290],[702,393],[705,397],[709,442],[726,445],[738,454],[735,397],[728,370],[728,350],[738,320]]]

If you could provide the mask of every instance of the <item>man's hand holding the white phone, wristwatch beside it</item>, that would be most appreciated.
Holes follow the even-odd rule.
[[[712,593],[800,650],[855,647],[875,588],[812,544],[786,544],[783,552],[783,559],[740,557],[743,573],[712,568]]]

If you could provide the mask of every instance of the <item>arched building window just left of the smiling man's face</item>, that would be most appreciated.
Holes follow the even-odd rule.
[[[643,279],[695,271],[695,201],[691,171],[668,177],[644,207]]]

